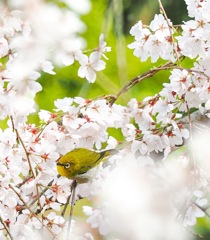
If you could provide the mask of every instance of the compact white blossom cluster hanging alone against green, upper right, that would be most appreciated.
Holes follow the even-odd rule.
[[[167,22],[161,14],[155,15],[149,27],[139,21],[131,28],[130,33],[135,37],[135,42],[129,44],[129,48],[134,49],[134,56],[141,61],[151,57],[151,61],[156,62],[161,57],[174,62],[173,32],[170,21]]]

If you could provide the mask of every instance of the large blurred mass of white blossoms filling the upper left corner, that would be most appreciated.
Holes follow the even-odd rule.
[[[24,13],[0,5],[0,119],[13,116],[15,124],[24,122],[36,110],[34,97],[42,90],[36,81],[40,72],[55,74],[52,63],[46,59],[61,62],[71,41],[84,42],[77,36],[84,31],[79,13],[42,1],[31,3],[33,6],[28,3],[9,3],[11,8],[24,8]],[[88,10],[88,2],[86,5]]]

